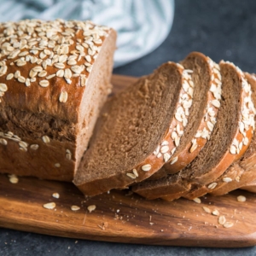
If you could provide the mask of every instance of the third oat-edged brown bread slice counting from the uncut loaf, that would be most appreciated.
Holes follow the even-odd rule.
[[[241,142],[245,142],[246,137],[250,142],[253,135],[253,113],[251,113],[253,112],[251,110],[253,105],[249,103],[248,106],[246,103],[247,101],[251,102],[250,86],[244,79],[241,70],[232,63],[221,61],[219,65],[223,80],[223,90],[218,110],[218,122],[212,131],[211,140],[201,150],[198,157],[183,169],[178,177],[178,183],[183,186],[183,196],[187,195],[191,189],[200,189],[201,186],[216,180],[233,161],[244,154],[248,144]],[[245,112],[249,113],[249,120],[247,125],[244,125],[245,127],[241,129],[242,114],[244,115]],[[236,141],[239,142],[240,148],[236,147]],[[161,181],[161,183],[167,182],[172,186],[171,177],[168,177],[166,181]],[[177,182],[175,186],[177,186]],[[174,193],[167,194],[168,191],[166,189],[161,190],[160,185],[158,187],[159,189],[154,189],[151,199],[162,197],[165,200],[172,201],[173,196],[177,198],[177,193],[181,195],[182,192],[181,190],[174,190]],[[140,190],[135,190],[135,192],[142,195]]]

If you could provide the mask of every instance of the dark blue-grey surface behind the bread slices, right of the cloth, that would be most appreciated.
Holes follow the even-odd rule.
[[[165,61],[180,61],[194,50],[213,61],[229,60],[256,73],[256,1],[177,0],[175,5],[172,31],[166,41],[114,73],[141,76]]]

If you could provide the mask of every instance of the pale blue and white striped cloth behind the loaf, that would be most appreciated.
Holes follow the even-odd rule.
[[[148,54],[172,27],[174,0],[0,0],[0,21],[93,20],[118,32],[119,67]]]

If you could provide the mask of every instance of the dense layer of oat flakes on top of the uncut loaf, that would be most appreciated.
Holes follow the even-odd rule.
[[[108,30],[89,20],[0,23],[0,77],[41,88],[50,86],[49,79],[55,77],[63,79],[67,86],[79,77],[80,86],[85,86]],[[31,63],[36,67],[26,73],[26,66]],[[9,66],[15,67],[16,72],[10,73]],[[6,84],[0,84],[0,102],[7,90]],[[67,94],[60,92],[59,102],[67,101]]]

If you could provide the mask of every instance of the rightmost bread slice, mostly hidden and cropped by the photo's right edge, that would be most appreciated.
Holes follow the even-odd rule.
[[[256,104],[256,79],[254,75],[245,73],[246,79],[252,88],[252,100]],[[224,172],[223,177],[216,181],[216,185],[212,191],[208,191],[212,195],[224,195],[234,189],[246,189],[253,191],[253,183],[256,180],[256,137],[253,134],[252,142],[247,148],[247,152],[242,158],[234,163]],[[229,181],[225,183],[224,180]]]

